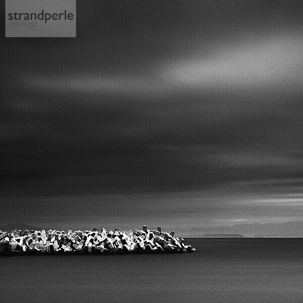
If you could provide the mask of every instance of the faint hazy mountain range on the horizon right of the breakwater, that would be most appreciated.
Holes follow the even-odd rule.
[[[291,221],[283,223],[254,223],[236,224],[223,227],[197,227],[189,230],[190,234],[203,236],[203,234],[241,234],[247,236],[265,237],[303,237],[303,221]]]

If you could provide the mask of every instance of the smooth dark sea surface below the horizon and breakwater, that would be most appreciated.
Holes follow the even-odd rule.
[[[0,301],[303,301],[303,240],[187,242],[197,252],[1,257]]]

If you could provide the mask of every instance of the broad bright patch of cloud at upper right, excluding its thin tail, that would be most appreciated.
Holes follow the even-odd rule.
[[[267,39],[218,46],[212,56],[187,58],[167,67],[168,81],[200,89],[243,89],[302,84],[303,39],[281,33]],[[281,87],[279,87],[281,88]]]

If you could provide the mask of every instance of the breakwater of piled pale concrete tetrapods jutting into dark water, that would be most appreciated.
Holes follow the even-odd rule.
[[[183,238],[170,233],[142,229],[130,231],[107,231],[102,228],[91,230],[13,230],[0,231],[0,254],[117,254],[134,252],[194,252],[195,248],[185,245]]]

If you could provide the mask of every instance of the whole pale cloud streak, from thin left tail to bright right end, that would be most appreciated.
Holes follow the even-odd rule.
[[[169,62],[166,69],[159,68],[149,77],[127,73],[123,77],[24,75],[23,84],[40,90],[142,95],[165,95],[167,91],[180,91],[186,87],[217,91],[227,88],[257,90],[279,85],[279,89],[289,86],[298,89],[302,84],[302,49],[301,35],[284,33],[268,40],[247,41],[233,48],[219,45],[211,57]]]

